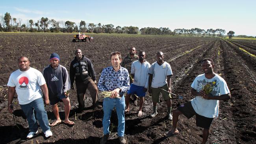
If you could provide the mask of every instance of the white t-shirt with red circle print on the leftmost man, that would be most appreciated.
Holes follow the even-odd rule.
[[[7,86],[15,87],[20,105],[25,105],[42,97],[41,85],[45,84],[43,74],[35,68],[11,73]]]

